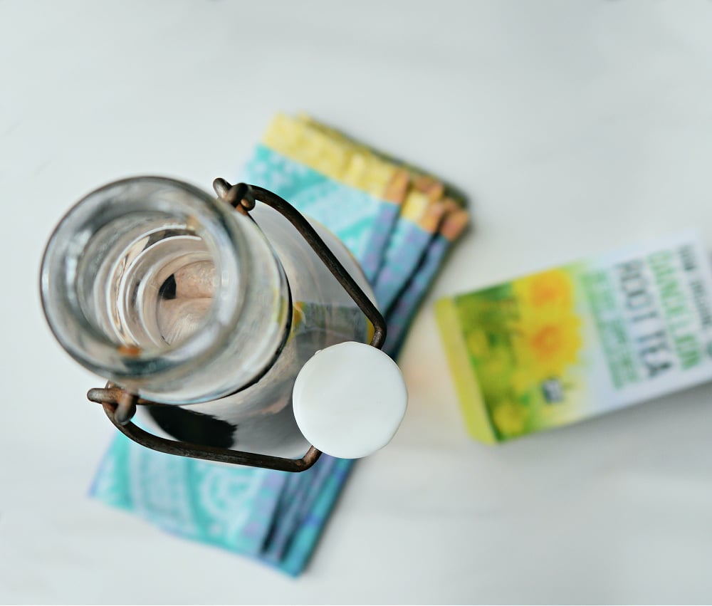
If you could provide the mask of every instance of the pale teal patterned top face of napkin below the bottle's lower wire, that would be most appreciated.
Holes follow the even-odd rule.
[[[118,434],[91,494],[164,531],[258,555],[287,476],[170,456]]]

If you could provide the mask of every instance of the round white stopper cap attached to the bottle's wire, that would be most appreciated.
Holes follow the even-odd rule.
[[[300,431],[325,454],[358,459],[383,448],[403,420],[408,392],[384,352],[349,341],[316,352],[292,394]]]

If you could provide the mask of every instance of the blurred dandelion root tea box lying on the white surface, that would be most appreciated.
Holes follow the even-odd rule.
[[[712,271],[683,234],[443,298],[466,424],[490,444],[712,380]]]

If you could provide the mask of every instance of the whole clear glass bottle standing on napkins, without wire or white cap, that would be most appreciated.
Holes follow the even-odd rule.
[[[138,424],[173,439],[298,458],[291,409],[314,352],[372,327],[298,231],[189,184],[138,177],[88,194],[51,236],[43,306],[75,360],[158,404]],[[373,301],[355,259],[318,234]]]

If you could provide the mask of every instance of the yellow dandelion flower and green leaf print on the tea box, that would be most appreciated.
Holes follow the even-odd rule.
[[[535,431],[578,388],[575,286],[553,270],[456,298],[458,321],[495,439]],[[465,328],[466,327],[466,328]]]

